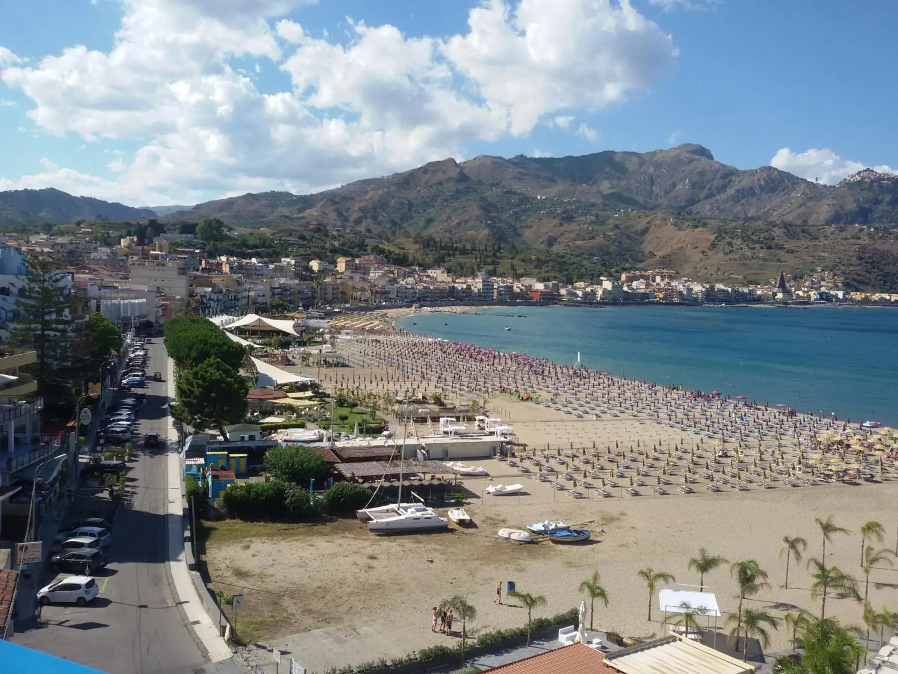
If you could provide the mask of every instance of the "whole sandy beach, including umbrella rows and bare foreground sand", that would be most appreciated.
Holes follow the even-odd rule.
[[[440,599],[468,595],[478,610],[471,625],[476,634],[525,620],[522,609],[493,603],[497,582],[515,581],[519,590],[545,595],[548,607],[540,615],[552,615],[577,605],[580,581],[598,571],[611,604],[596,607],[597,628],[646,638],[661,634],[664,615],[653,605],[648,622],[647,588],[636,573],[651,567],[698,584],[687,564],[700,546],[730,562],[755,559],[770,574],[770,589],[753,605],[779,617],[799,607],[819,614],[806,571],[806,561],[821,554],[814,519],[832,514],[852,532],[827,545],[826,564],[857,576],[862,595],[859,527],[876,519],[887,534],[872,544],[896,545],[893,430],[849,428],[788,409],[391,331],[339,340],[337,350],[351,367],[290,369],[320,377],[329,390],[355,389],[384,400],[414,390],[439,391],[458,404],[485,401],[525,448],[511,461],[475,462],[490,477],[463,480],[475,528],[381,537],[360,522],[339,520],[322,527],[267,525],[253,540],[214,545],[213,578],[244,586],[264,581],[273,593],[253,599],[253,590],[244,590],[247,606],[268,611],[260,616],[268,636],[374,624],[402,630],[401,646],[393,648],[410,652],[451,638],[430,631],[430,607]],[[531,402],[520,399],[526,395]],[[433,420],[414,432],[435,428]],[[521,496],[485,495],[491,483],[524,483],[525,489]],[[544,519],[582,523],[594,535],[588,545],[568,546],[519,545],[496,536],[498,528]],[[788,590],[782,587],[786,536],[808,542],[803,562],[792,564]],[[249,578],[239,580],[242,573]],[[872,569],[870,579],[874,607],[898,606],[896,570]],[[728,564],[705,584],[725,614],[735,611]],[[846,623],[861,624],[861,612],[853,599],[831,596],[827,602],[827,614]],[[721,630],[725,624],[726,615],[718,619]],[[781,628],[771,649],[787,646]]]

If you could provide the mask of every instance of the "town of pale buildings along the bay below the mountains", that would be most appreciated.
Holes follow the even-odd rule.
[[[843,304],[898,306],[898,294],[849,292],[832,272],[795,279],[779,273],[765,284],[700,283],[673,270],[631,270],[597,283],[559,283],[478,273],[454,276],[443,268],[422,270],[380,256],[269,260],[208,256],[194,235],[162,233],[152,244],[125,236],[101,245],[82,235],[7,236],[0,245],[0,295],[13,310],[29,256],[53,257],[68,271],[76,313],[99,311],[121,326],[159,326],[176,315],[287,313],[337,306],[416,304],[561,305]],[[5,290],[5,292],[4,292]],[[5,314],[5,312],[4,312]],[[4,319],[0,318],[0,324]]]

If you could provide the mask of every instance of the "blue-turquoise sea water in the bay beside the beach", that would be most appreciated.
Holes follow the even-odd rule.
[[[402,319],[409,332],[658,384],[898,426],[898,311],[502,307]],[[509,327],[510,330],[505,330]]]

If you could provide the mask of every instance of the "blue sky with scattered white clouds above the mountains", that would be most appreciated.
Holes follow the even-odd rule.
[[[0,189],[134,205],[683,142],[898,165],[898,4],[0,0]]]

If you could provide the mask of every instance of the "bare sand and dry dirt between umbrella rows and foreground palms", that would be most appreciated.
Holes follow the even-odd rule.
[[[471,480],[468,486],[479,494],[486,483]],[[580,581],[598,571],[611,603],[596,607],[596,628],[648,637],[661,633],[663,613],[654,599],[653,622],[647,621],[648,594],[636,575],[639,569],[652,567],[673,573],[681,583],[698,584],[687,564],[706,546],[730,561],[756,559],[769,572],[770,590],[753,599],[756,606],[779,617],[797,607],[819,613],[820,600],[811,597],[813,581],[805,568],[808,558],[821,554],[814,519],[832,513],[837,524],[853,532],[827,545],[826,562],[855,574],[861,593],[858,528],[878,519],[887,531],[895,529],[895,485],[888,482],[577,501],[535,481],[527,482],[526,490],[520,499],[474,498],[467,510],[476,528],[450,525],[449,531],[435,534],[374,535],[355,519],[321,526],[223,522],[208,544],[213,587],[225,594],[242,591],[241,632],[253,641],[374,622],[401,629],[413,650],[445,641],[429,629],[430,608],[440,599],[467,595],[478,611],[471,625],[476,634],[525,622],[523,609],[493,603],[497,582],[504,589],[506,581],[515,581],[519,590],[545,595],[548,606],[538,610],[548,616],[578,605]],[[498,528],[547,518],[584,523],[594,536],[587,545],[520,545],[497,537]],[[805,562],[790,569],[788,590],[782,587],[784,536],[805,537],[809,544]],[[894,549],[894,533],[876,545]],[[870,576],[873,606],[898,607],[896,570],[877,568]],[[737,605],[728,566],[711,572],[705,584],[717,593],[723,628],[726,613]],[[861,606],[851,599],[830,598],[827,614],[861,623]],[[774,648],[787,643],[785,630],[774,634]]]

